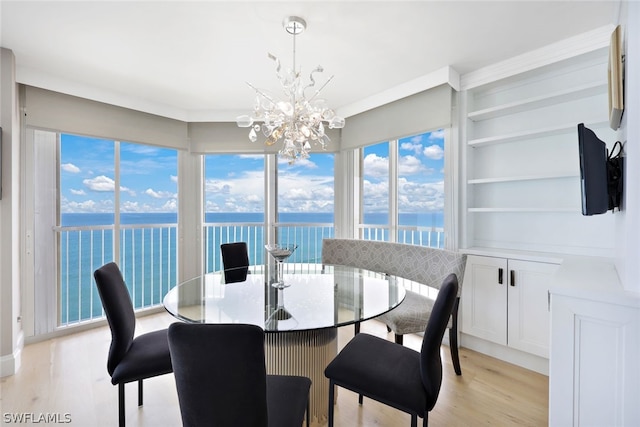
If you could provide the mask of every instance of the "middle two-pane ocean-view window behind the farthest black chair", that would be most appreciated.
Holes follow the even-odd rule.
[[[268,163],[265,155],[205,155],[205,271],[222,267],[220,244],[227,242],[247,242],[249,262],[264,264],[269,238],[298,245],[290,262],[320,262],[322,239],[334,234],[333,183],[331,153],[291,165],[279,158]]]

